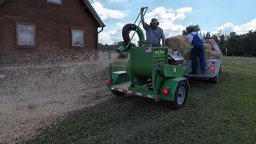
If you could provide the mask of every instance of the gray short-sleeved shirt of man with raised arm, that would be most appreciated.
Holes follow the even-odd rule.
[[[165,39],[164,31],[162,28],[157,27],[156,29],[153,29],[146,23],[144,29],[146,30],[146,38],[148,43],[160,45],[160,39]]]

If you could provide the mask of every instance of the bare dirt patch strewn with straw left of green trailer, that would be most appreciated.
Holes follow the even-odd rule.
[[[29,139],[69,111],[113,97],[105,82],[108,67],[108,53],[100,53],[99,61],[1,67],[0,143]]]

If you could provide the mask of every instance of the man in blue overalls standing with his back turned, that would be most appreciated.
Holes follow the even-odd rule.
[[[202,41],[202,36],[195,31],[195,28],[192,28],[189,31],[188,39],[191,45],[194,46],[193,49],[190,51],[190,57],[191,57],[191,68],[192,72],[189,73],[191,75],[197,75],[197,58],[200,61],[201,66],[201,72],[204,74],[205,69],[205,59],[204,59],[204,45]]]

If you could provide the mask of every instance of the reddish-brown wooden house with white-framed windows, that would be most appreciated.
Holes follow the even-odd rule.
[[[0,0],[0,55],[97,51],[103,27],[88,0]]]

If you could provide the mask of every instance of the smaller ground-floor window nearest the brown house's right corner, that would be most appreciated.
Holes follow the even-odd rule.
[[[72,46],[84,46],[84,31],[71,29]]]

